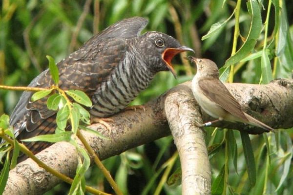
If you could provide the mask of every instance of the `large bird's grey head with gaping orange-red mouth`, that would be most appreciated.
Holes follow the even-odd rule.
[[[176,78],[176,72],[171,60],[176,54],[185,51],[194,52],[193,49],[182,46],[178,40],[160,32],[146,32],[139,38],[142,55],[146,64],[154,73],[170,70]]]

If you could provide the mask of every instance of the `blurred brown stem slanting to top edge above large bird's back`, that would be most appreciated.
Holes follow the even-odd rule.
[[[71,39],[71,42],[70,42],[70,45],[69,45],[69,53],[73,52],[73,49],[74,49],[74,47],[76,45],[77,36],[78,36],[78,34],[79,34],[79,32],[80,32],[80,30],[82,28],[82,25],[84,23],[85,17],[88,14],[91,1],[92,0],[86,0],[85,3],[84,3],[84,11],[83,11],[81,17],[78,19],[76,28],[75,28],[75,30],[74,30],[74,32],[72,34],[72,39]]]

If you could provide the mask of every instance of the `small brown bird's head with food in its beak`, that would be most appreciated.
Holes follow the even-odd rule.
[[[204,77],[219,78],[219,69],[215,62],[210,59],[199,59],[189,56],[188,59],[196,64],[197,73]]]

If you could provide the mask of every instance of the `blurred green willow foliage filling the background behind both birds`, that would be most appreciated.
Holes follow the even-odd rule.
[[[256,2],[256,0],[252,1]],[[251,33],[251,14],[247,2],[247,0],[2,0],[0,84],[28,85],[47,68],[46,55],[54,57],[58,62],[78,49],[93,34],[117,20],[132,16],[148,18],[146,31],[165,32],[179,39],[182,44],[194,48],[197,57],[212,59],[219,67],[230,58],[233,50],[237,53],[244,41],[252,40],[249,37],[254,33],[257,35],[255,46],[248,45],[250,46],[248,55],[235,59],[235,64],[232,66],[228,67],[229,64],[226,63],[228,68],[221,69],[224,73],[223,79],[266,83],[270,78],[291,78],[293,15],[290,11],[287,14],[286,10],[293,9],[293,2],[258,0],[261,18],[255,17],[253,20],[261,22],[262,25],[252,29]],[[240,5],[239,22],[232,15],[237,3]],[[89,6],[87,7],[86,4]],[[269,4],[271,10],[268,15]],[[227,20],[230,16],[230,20]],[[219,25],[216,31],[202,41],[201,38],[209,32],[212,24],[217,22]],[[241,36],[233,39],[235,24],[239,24]],[[182,62],[184,66],[180,65]],[[177,80],[167,72],[158,74],[151,86],[142,92],[133,104],[142,104],[155,98],[177,83],[191,79],[195,73],[194,68],[190,67],[187,61],[181,61],[179,57],[174,60],[174,64],[179,74]],[[230,69],[234,70],[233,73],[230,73]],[[20,92],[0,90],[0,115],[10,114],[20,95]],[[225,130],[216,131],[211,135],[212,131],[213,129],[207,129],[207,144],[217,146],[210,155],[213,194],[293,194],[291,130],[280,131],[276,135],[251,136],[256,164],[254,187],[249,183],[250,170],[246,169],[244,163],[244,149],[239,132]],[[266,140],[270,144],[266,145]],[[232,146],[229,151],[226,150],[227,145]],[[271,146],[271,150],[266,147],[268,145]],[[180,166],[178,158],[174,163],[167,161],[174,157],[175,151],[172,138],[165,137],[120,156],[106,159],[104,163],[126,194],[175,195],[180,193],[178,185],[165,184],[163,189],[158,187],[160,182],[165,182],[161,180],[161,176],[166,167],[172,167],[173,172]],[[280,188],[276,191],[279,183],[281,183]],[[112,192],[95,167],[90,168],[87,173],[87,184],[105,189],[105,192]],[[63,194],[68,192],[68,189],[66,184],[61,184],[47,194]]]

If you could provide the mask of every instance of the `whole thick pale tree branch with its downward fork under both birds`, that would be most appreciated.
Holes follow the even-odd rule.
[[[273,128],[293,127],[292,79],[274,80],[267,85],[227,83],[226,86],[251,116],[262,120]],[[83,135],[100,159],[103,160],[169,135],[168,118],[182,163],[184,193],[188,194],[196,187],[202,187],[202,192],[208,193],[210,191],[210,170],[208,156],[205,152],[206,149],[204,149],[204,135],[202,130],[193,124],[201,122],[198,112],[200,109],[191,94],[190,82],[187,82],[148,102],[145,105],[146,112],[143,110],[126,111],[111,117],[115,121],[110,124],[111,132],[108,132],[101,124],[90,126],[109,137],[109,140],[95,137],[87,132],[83,132]],[[177,99],[174,98],[176,96]],[[168,102],[172,105],[168,105]],[[178,113],[179,116],[173,116],[171,113]],[[204,113],[202,118],[203,121],[211,119]],[[254,134],[263,133],[259,128],[248,127],[240,123],[224,121],[215,125]],[[53,144],[37,155],[47,165],[69,177],[75,175],[78,164],[77,156],[75,147],[66,142]],[[206,160],[201,159],[200,161],[198,156]],[[205,164],[202,165],[202,163]],[[190,172],[185,172],[189,167],[191,167]],[[191,185],[187,184],[191,179],[195,180],[193,188],[189,188],[188,186]],[[31,159],[27,159],[10,171],[4,194],[43,194],[60,182],[60,179],[45,172]]]

